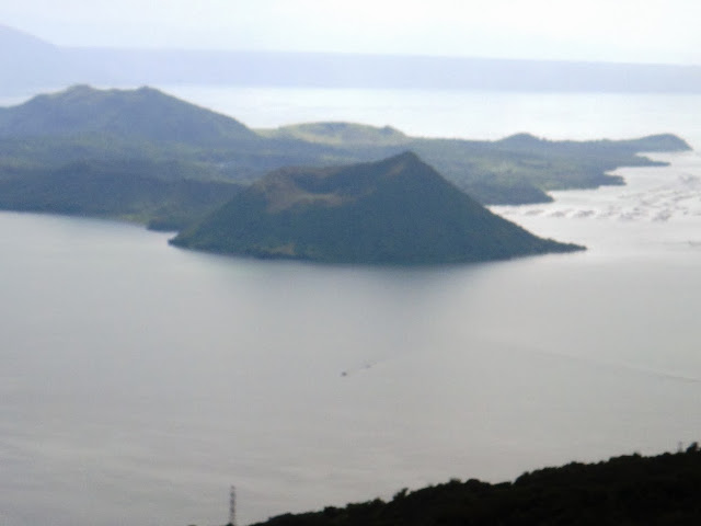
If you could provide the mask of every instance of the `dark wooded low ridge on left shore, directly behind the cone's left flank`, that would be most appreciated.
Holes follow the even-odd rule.
[[[113,217],[180,230],[241,191],[232,183],[176,178],[176,163],[81,161],[0,178],[0,208]],[[168,176],[159,176],[168,172]]]

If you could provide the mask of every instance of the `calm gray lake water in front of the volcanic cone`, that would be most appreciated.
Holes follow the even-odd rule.
[[[587,252],[480,265],[260,262],[0,213],[0,524],[223,524],[230,484],[246,524],[698,441],[701,157],[656,157],[495,209]]]

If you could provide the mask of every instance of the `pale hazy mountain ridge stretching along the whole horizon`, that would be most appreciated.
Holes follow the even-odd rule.
[[[76,83],[700,93],[700,66],[57,47],[0,27],[0,94]]]

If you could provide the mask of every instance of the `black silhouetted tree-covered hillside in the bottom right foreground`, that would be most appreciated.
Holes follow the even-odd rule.
[[[320,512],[286,514],[256,526],[697,526],[701,451],[631,455],[568,464],[490,484],[451,480]]]

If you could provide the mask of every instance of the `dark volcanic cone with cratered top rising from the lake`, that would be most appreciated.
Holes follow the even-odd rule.
[[[172,243],[368,264],[476,262],[582,249],[538,238],[492,214],[411,152],[274,172]]]

